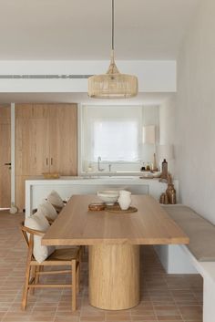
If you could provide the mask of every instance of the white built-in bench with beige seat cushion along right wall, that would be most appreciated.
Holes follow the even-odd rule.
[[[215,322],[215,226],[187,206],[163,207],[189,236],[189,244],[155,246],[160,262],[168,274],[203,277],[203,322]]]

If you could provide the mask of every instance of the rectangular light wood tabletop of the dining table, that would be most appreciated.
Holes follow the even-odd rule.
[[[44,236],[43,244],[189,244],[189,237],[148,195],[132,195],[137,213],[88,212],[96,195],[74,195]]]

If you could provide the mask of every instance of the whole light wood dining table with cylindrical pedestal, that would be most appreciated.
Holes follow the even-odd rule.
[[[45,245],[88,245],[89,303],[108,310],[139,302],[139,245],[189,244],[149,195],[132,195],[136,213],[89,211],[96,195],[73,195],[42,239]]]

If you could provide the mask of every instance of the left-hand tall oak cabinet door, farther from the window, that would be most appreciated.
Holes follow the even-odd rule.
[[[15,173],[41,175],[49,171],[49,130],[46,105],[15,108]]]

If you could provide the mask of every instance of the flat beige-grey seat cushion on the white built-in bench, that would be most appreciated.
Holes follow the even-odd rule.
[[[163,206],[189,236],[189,251],[200,262],[215,261],[215,226],[184,205]]]

